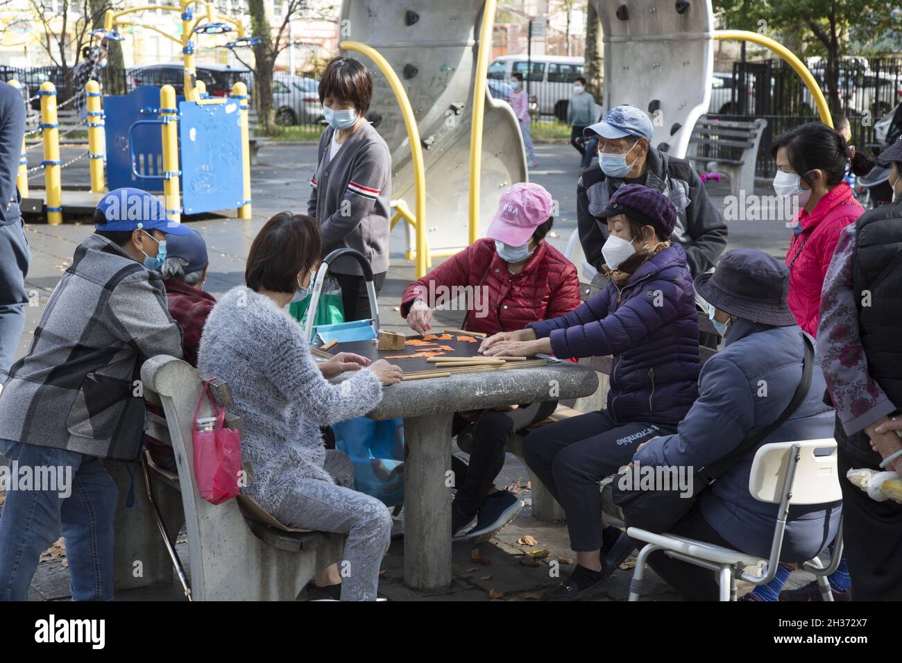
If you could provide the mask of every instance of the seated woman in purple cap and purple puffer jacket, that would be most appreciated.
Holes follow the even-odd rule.
[[[613,355],[607,409],[538,428],[525,458],[566,511],[577,566],[545,594],[588,598],[632,551],[614,527],[602,529],[598,482],[630,462],[643,442],[676,431],[698,396],[698,314],[686,253],[667,237],[676,210],[658,189],[626,184],[600,211],[610,235],[608,286],[559,318],[531,322],[483,341],[485,355]]]

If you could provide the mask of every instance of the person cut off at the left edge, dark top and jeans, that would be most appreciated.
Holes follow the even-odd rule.
[[[32,260],[19,210],[19,159],[25,135],[22,93],[0,82],[0,390],[25,327],[25,274]]]

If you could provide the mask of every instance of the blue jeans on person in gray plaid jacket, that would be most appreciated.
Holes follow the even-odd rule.
[[[61,491],[60,483],[7,489],[0,511],[0,601],[28,600],[41,553],[60,532],[66,541],[72,600],[112,599],[113,516],[118,491],[100,459],[9,440],[0,440],[0,452],[11,469],[18,467],[19,476],[23,467],[33,468],[32,472],[58,467],[70,477],[68,491]],[[10,483],[13,481],[11,474]],[[68,497],[60,495],[66,492]]]

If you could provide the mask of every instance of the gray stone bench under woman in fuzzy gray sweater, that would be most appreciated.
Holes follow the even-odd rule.
[[[161,521],[171,539],[187,525],[192,598],[219,600],[295,600],[321,569],[341,559],[345,537],[279,529],[255,502],[241,497],[219,505],[198,493],[194,474],[192,428],[202,392],[197,371],[186,362],[159,355],[143,364],[144,400],[161,407],[164,416],[148,412],[148,434],[172,447],[178,472],[168,472],[148,460],[148,475]],[[228,386],[214,384],[217,405],[232,403]],[[211,416],[208,404],[199,416]],[[242,431],[240,419],[227,417],[230,428]],[[115,515],[115,585],[133,589],[173,580],[172,561],[161,539],[143,474],[134,473],[134,504],[125,498],[133,464],[107,463],[119,488]],[[251,468],[253,470],[253,468]],[[239,504],[241,500],[241,504]],[[245,517],[249,514],[255,520]]]

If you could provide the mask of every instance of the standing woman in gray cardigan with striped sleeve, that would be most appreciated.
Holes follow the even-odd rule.
[[[328,63],[319,81],[328,126],[319,137],[307,213],[319,224],[323,257],[345,246],[363,253],[378,294],[389,268],[391,152],[364,118],[372,97],[373,78],[363,64],[351,58]],[[329,272],[341,286],[345,320],[369,318],[360,264],[345,256]]]

